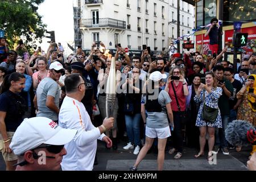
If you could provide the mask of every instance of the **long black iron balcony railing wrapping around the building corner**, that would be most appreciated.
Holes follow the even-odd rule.
[[[126,29],[126,22],[113,18],[82,19],[81,27],[113,27]]]

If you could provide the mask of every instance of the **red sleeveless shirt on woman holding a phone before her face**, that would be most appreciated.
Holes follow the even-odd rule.
[[[173,82],[174,84],[174,89],[176,92],[176,96],[177,96],[177,100],[179,102],[180,105],[180,111],[185,111],[186,110],[186,97],[184,95],[184,90],[183,90],[183,82],[179,82],[179,84],[176,86],[175,82]],[[178,107],[177,107],[177,102],[176,102],[176,98],[175,98],[175,94],[174,94],[174,90],[172,90],[172,84],[170,82],[169,86],[169,96],[171,97],[171,107],[173,111],[179,111]],[[186,85],[187,86],[187,85]]]

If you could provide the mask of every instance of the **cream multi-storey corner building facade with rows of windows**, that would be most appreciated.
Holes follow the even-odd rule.
[[[152,51],[168,52],[169,42],[177,38],[177,1],[81,0],[77,4],[81,13],[74,24],[81,36],[75,35],[75,43],[76,38],[81,40],[83,49],[101,41],[108,49],[120,43],[123,48],[141,50],[146,44]],[[192,5],[180,0],[180,36],[194,27],[194,12]]]

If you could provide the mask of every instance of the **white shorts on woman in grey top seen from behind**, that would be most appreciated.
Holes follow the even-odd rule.
[[[171,136],[171,131],[169,126],[160,129],[153,129],[152,127],[146,126],[145,134],[149,138],[167,138]]]

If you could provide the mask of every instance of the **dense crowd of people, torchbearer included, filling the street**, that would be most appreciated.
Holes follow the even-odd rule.
[[[226,48],[216,57],[193,51],[184,51],[180,57],[172,52],[164,57],[147,48],[142,55],[131,56],[117,46],[113,54],[117,95],[113,117],[106,118],[105,90],[113,62],[104,43],[93,42],[89,55],[77,48],[65,59],[56,43],[51,43],[46,52],[39,47],[27,56],[24,44],[9,50],[5,38],[0,40],[0,48],[5,47],[0,56],[0,150],[7,170],[16,166],[44,169],[32,158],[38,159],[36,151],[44,147],[51,156],[49,146],[59,146],[57,152],[61,154],[55,155],[61,156],[61,169],[92,170],[97,160],[97,139],[113,150],[134,149],[138,158],[131,170],[137,170],[153,148],[158,155],[158,169],[162,170],[166,148],[168,154],[175,154],[174,159],[180,159],[186,144],[198,148],[195,158],[200,158],[208,140],[207,159],[212,160],[212,154],[220,150],[224,155],[229,155],[233,147],[237,152],[242,150],[242,146],[232,146],[225,138],[229,122],[241,119],[256,125],[254,55],[241,60],[241,66],[234,71],[233,64],[223,60]],[[47,122],[47,118],[73,138],[51,140],[54,132],[47,133],[46,138],[43,129],[38,133],[28,131],[47,127],[46,123],[33,123]],[[31,138],[20,139],[20,130],[31,134]],[[31,140],[36,135],[42,140]],[[118,146],[126,135],[127,145]]]

